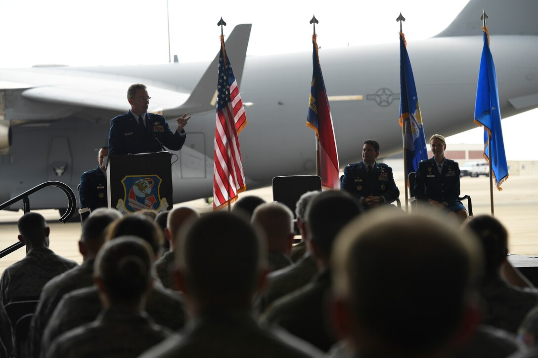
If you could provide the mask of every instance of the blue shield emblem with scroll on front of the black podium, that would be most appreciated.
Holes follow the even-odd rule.
[[[140,210],[166,211],[168,202],[160,197],[161,178],[158,175],[127,175],[122,179],[123,199],[116,209],[124,215]]]

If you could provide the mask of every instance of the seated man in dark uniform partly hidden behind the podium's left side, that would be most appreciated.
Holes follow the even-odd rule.
[[[103,164],[108,156],[108,147],[101,147],[97,152],[97,168],[84,171],[80,176],[80,207],[89,207],[94,211],[98,207],[107,207],[107,174]]]

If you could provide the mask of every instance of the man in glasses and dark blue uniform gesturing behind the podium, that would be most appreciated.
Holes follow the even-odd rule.
[[[147,113],[151,97],[146,86],[132,84],[127,91],[131,105],[129,112],[120,114],[110,121],[108,147],[110,155],[154,153],[164,147],[179,151],[185,143],[186,133],[183,127],[190,116],[183,114],[176,119],[178,129],[172,133],[166,118],[155,113]]]

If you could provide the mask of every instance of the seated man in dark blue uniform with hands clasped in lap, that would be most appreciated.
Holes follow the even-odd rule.
[[[349,191],[359,199],[363,210],[369,210],[380,204],[390,204],[400,196],[400,190],[394,183],[392,168],[384,163],[377,163],[379,143],[365,140],[363,160],[348,164],[344,168],[344,177],[340,189]]]

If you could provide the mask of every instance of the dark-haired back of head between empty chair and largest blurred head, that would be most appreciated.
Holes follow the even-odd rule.
[[[308,203],[306,221],[309,238],[326,259],[329,259],[338,232],[359,213],[358,200],[347,191],[324,191]]]

